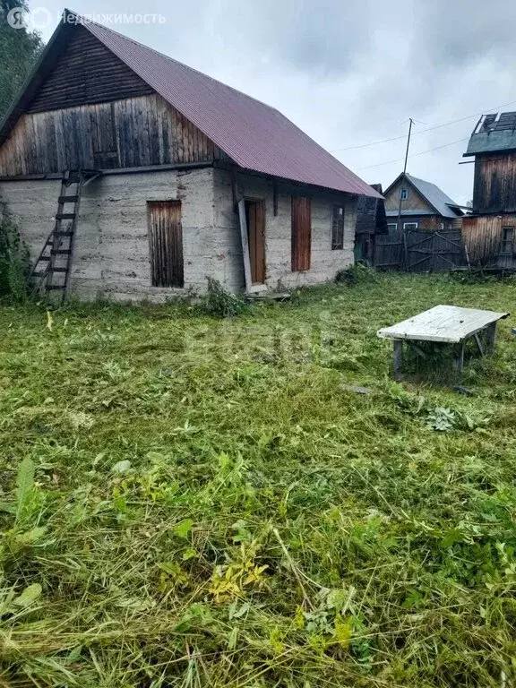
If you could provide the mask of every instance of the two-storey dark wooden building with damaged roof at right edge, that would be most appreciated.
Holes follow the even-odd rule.
[[[463,240],[472,264],[516,267],[516,112],[483,115],[464,157],[475,159]]]

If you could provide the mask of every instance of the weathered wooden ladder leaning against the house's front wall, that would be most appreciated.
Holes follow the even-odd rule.
[[[70,288],[73,248],[81,207],[82,189],[99,173],[95,170],[64,172],[61,193],[57,199],[56,222],[34,263],[30,279],[34,280],[32,294],[61,291],[64,303]]]

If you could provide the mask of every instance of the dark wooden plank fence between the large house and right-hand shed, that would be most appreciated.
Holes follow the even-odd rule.
[[[393,231],[376,236],[374,267],[382,270],[436,272],[466,265],[460,230]]]

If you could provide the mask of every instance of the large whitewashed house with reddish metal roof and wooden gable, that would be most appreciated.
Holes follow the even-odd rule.
[[[362,195],[278,110],[68,10],[0,125],[0,200],[81,298],[331,280]]]

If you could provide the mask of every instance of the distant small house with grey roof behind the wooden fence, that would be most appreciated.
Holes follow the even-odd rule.
[[[399,229],[434,232],[460,228],[464,212],[450,196],[430,182],[401,173],[383,195],[389,231],[398,228],[400,202]]]

